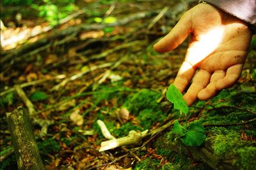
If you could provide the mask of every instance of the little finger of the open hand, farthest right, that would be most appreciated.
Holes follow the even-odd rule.
[[[226,76],[216,82],[216,89],[222,90],[231,87],[239,79],[243,64],[236,64],[227,69]]]

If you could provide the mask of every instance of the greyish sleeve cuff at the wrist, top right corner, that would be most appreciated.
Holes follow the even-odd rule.
[[[200,0],[199,3],[201,2]],[[205,0],[205,2],[247,22],[253,33],[256,33],[256,0]]]

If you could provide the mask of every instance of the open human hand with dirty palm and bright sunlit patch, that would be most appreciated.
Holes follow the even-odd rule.
[[[239,79],[252,33],[236,17],[210,4],[198,4],[184,13],[172,31],[154,45],[157,52],[169,52],[191,34],[186,57],[174,85],[191,105],[207,100]],[[195,76],[194,76],[195,74]]]

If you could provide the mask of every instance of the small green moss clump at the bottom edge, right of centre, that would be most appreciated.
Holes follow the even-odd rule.
[[[133,170],[156,170],[159,169],[159,160],[147,158],[136,164]]]

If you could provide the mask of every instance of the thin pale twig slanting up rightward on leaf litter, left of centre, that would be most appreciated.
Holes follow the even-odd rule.
[[[92,66],[90,69],[87,69],[85,71],[81,71],[69,78],[66,78],[65,80],[61,81],[61,83],[59,83],[58,85],[52,87],[51,91],[53,90],[58,90],[60,89],[60,87],[63,87],[64,85],[66,85],[69,81],[72,81],[72,80],[76,80],[77,78],[83,76],[84,74],[86,73],[89,73],[90,71],[93,71],[95,69],[100,69],[100,68],[104,68],[104,67],[109,67],[109,66],[112,66],[113,65],[113,62],[107,62],[105,64],[100,64],[98,66]]]

